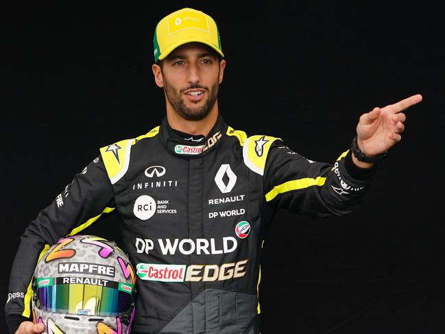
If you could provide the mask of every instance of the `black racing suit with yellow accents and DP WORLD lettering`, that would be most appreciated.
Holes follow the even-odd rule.
[[[5,306],[10,330],[29,316],[29,283],[45,244],[117,211],[138,276],[132,333],[259,333],[261,248],[274,213],[350,213],[374,169],[356,167],[348,150],[333,165],[308,160],[278,138],[233,130],[221,116],[206,138],[164,119],[102,147],[27,227]]]

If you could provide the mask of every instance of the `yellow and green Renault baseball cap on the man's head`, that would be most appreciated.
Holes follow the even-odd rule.
[[[215,20],[200,10],[182,8],[159,21],[154,30],[154,62],[163,60],[171,51],[190,42],[212,47],[224,57]]]

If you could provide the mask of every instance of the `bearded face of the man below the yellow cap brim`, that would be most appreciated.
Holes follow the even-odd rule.
[[[182,118],[199,121],[215,106],[225,64],[210,47],[187,43],[163,60],[158,73],[154,69],[156,84]]]

